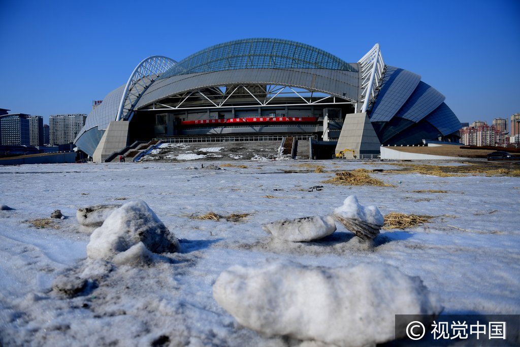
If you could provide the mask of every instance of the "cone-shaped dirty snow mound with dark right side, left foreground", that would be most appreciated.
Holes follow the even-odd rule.
[[[149,262],[151,253],[176,252],[178,249],[175,235],[146,202],[136,200],[114,210],[94,230],[87,245],[87,255],[90,259],[134,264],[138,260]]]

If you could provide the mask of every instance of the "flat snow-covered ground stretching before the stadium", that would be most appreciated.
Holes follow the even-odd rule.
[[[336,171],[394,164],[308,162],[324,166],[316,173],[301,163],[233,161],[223,170],[186,169],[197,162],[0,166],[0,204],[14,209],[0,211],[0,345],[300,345],[240,325],[213,297],[215,281],[231,266],[278,261],[390,265],[419,276],[443,314],[520,313],[520,178],[374,172],[395,187],[336,186],[323,183]],[[317,185],[323,188],[309,189]],[[374,245],[340,223],[313,242],[263,230],[278,220],[331,215],[350,195],[383,215],[437,217],[383,229]],[[175,234],[180,252],[141,266],[87,259],[93,228],[78,223],[76,210],[133,199],[145,201]],[[57,209],[66,219],[45,228],[30,223]],[[207,212],[249,215],[238,222],[193,219]],[[67,286],[81,287],[80,294]]]

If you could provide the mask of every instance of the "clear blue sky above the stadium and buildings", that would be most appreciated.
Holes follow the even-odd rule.
[[[365,6],[372,5],[371,8]],[[461,122],[520,112],[520,0],[0,0],[0,108],[89,113],[150,55],[276,37],[356,62],[375,44],[420,74]]]

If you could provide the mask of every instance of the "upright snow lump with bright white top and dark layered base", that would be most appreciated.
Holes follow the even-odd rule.
[[[355,195],[348,196],[343,205],[334,209],[334,217],[345,228],[363,240],[374,239],[384,224],[379,209],[373,205],[362,206]]]

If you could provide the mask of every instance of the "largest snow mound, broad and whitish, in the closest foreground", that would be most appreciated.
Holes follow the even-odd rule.
[[[397,313],[440,312],[419,277],[386,264],[352,268],[290,262],[258,268],[235,265],[217,278],[213,297],[238,323],[268,336],[339,346],[393,340]]]

